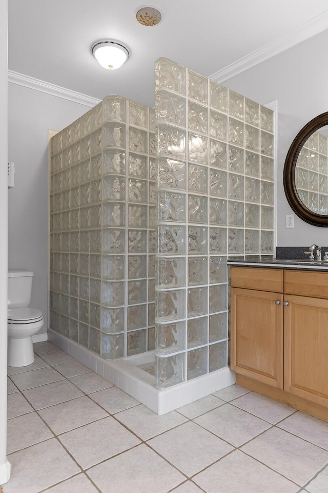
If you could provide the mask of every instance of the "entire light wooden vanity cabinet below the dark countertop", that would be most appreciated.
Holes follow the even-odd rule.
[[[231,267],[231,369],[328,421],[328,272]]]

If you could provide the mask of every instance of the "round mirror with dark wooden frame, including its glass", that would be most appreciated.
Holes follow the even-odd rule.
[[[293,140],[284,164],[283,186],[301,219],[328,227],[328,112],[307,123]]]

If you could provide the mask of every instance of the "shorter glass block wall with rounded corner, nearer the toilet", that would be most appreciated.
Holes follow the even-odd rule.
[[[154,349],[154,115],[109,96],[51,139],[50,327],[106,359]]]

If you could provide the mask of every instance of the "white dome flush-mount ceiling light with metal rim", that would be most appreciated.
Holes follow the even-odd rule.
[[[107,70],[116,70],[121,67],[130,55],[129,49],[123,43],[115,40],[97,41],[92,46],[91,51],[101,67],[107,68]]]

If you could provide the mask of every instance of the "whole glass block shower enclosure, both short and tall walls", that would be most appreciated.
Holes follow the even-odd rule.
[[[50,326],[161,389],[228,365],[228,255],[274,252],[273,112],[167,59],[51,140]]]

